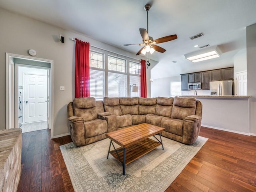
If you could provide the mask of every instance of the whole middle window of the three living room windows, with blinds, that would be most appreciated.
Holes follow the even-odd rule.
[[[108,97],[127,97],[126,60],[108,56]]]

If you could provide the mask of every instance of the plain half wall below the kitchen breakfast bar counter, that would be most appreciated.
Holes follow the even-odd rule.
[[[236,132],[250,133],[248,99],[197,98],[202,102],[202,126]]]

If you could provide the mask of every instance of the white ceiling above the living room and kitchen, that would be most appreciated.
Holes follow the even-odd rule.
[[[0,7],[72,30],[135,54],[141,43],[139,28],[147,28],[154,39],[177,34],[178,39],[158,44],[159,63],[151,78],[178,76],[186,72],[233,66],[233,56],[246,47],[246,26],[256,23],[256,0],[0,0]],[[198,33],[204,36],[190,40]],[[200,50],[194,45],[219,45],[220,58],[192,63],[184,54]],[[177,61],[177,63],[172,63]]]

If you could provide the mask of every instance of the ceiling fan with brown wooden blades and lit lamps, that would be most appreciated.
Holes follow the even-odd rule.
[[[165,52],[166,50],[160,46],[157,46],[156,44],[158,43],[164,43],[164,42],[168,42],[168,41],[171,41],[171,40],[174,40],[177,38],[177,35],[169,35],[169,36],[165,36],[165,37],[161,37],[161,38],[158,38],[156,40],[154,40],[151,36],[148,36],[148,10],[150,10],[151,8],[151,5],[150,4],[146,4],[144,6],[144,10],[147,12],[147,30],[146,29],[142,29],[140,28],[140,35],[142,36],[142,43],[140,44],[124,44],[124,45],[121,45],[121,46],[129,46],[129,45],[140,45],[140,46],[144,46],[142,47],[138,53],[136,55],[139,55],[139,54],[146,54],[146,52],[150,52],[150,54],[152,54],[155,50],[160,52],[160,53],[163,53]]]

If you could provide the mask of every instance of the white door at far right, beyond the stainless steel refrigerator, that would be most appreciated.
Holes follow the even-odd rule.
[[[247,72],[236,73],[236,95],[247,96]]]

